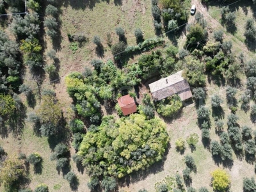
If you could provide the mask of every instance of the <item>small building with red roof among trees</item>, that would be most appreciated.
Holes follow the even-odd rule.
[[[129,115],[137,111],[135,100],[130,95],[124,95],[117,100],[124,115]]]

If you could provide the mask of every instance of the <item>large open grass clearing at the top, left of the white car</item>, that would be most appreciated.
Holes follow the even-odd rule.
[[[58,57],[61,61],[60,75],[70,73],[71,71],[81,71],[88,65],[93,58],[99,58],[104,61],[113,59],[111,47],[107,44],[107,33],[111,34],[112,44],[118,42],[118,36],[115,33],[117,27],[125,30],[125,37],[128,45],[136,45],[134,30],[140,28],[143,31],[144,38],[154,37],[154,27],[151,15],[151,1],[123,1],[122,5],[115,5],[111,0],[109,3],[101,1],[90,8],[76,8],[72,6],[62,6],[61,19],[61,49]],[[84,45],[73,53],[70,49],[70,42],[67,34],[83,34],[87,41]],[[96,54],[96,45],[93,44],[93,36],[99,35],[104,47],[104,56],[99,57]]]

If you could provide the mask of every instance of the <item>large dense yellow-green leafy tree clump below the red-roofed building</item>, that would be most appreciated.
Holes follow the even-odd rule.
[[[97,131],[84,136],[78,154],[90,175],[121,178],[162,159],[168,141],[166,125],[158,118],[105,116]]]

